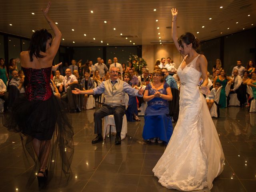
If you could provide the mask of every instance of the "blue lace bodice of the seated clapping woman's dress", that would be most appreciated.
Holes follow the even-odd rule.
[[[148,96],[154,95],[156,91],[159,91],[161,94],[167,95],[166,88],[168,88],[169,85],[167,83],[164,83],[164,88],[160,90],[155,90],[152,88],[151,84],[148,84],[146,86],[145,90],[148,90]],[[150,105],[163,105],[163,106],[168,106],[168,101],[164,100],[162,98],[154,98],[150,101],[148,101],[148,106]]]

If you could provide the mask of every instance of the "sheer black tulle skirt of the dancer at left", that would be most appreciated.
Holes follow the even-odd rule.
[[[65,106],[54,95],[46,101],[28,101],[25,96],[17,98],[12,108],[3,115],[3,125],[9,131],[18,132],[24,148],[25,165],[31,167],[28,172],[28,184],[36,178],[50,144],[47,167],[48,181],[55,178],[54,184],[65,183],[70,178],[70,164],[74,154],[72,122],[68,118]],[[34,143],[40,144],[39,155],[34,150]],[[56,180],[57,179],[57,180]]]

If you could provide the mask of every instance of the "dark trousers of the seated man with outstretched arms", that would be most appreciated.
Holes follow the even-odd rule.
[[[114,115],[116,132],[120,133],[122,130],[123,116],[125,113],[125,106],[107,106],[103,105],[94,113],[94,133],[102,134],[102,118],[108,115]]]

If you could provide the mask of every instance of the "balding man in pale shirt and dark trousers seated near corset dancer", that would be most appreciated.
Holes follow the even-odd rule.
[[[70,68],[66,69],[66,76],[64,77],[63,83],[60,85],[60,92],[64,90],[62,93],[61,99],[68,102],[68,108],[71,112],[76,111],[76,106],[74,106],[74,101],[72,98],[71,89],[69,88],[71,85],[78,84],[78,80],[76,76],[71,73]],[[64,87],[64,89],[63,89]]]

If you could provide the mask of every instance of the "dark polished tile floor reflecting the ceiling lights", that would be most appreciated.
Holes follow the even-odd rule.
[[[128,122],[128,134],[120,146],[114,137],[91,144],[94,135],[95,109],[70,114],[74,126],[75,152],[73,176],[68,186],[49,184],[52,192],[178,192],[162,187],[152,168],[164,152],[163,144],[142,139],[144,119]],[[256,191],[256,113],[230,107],[214,118],[225,154],[224,171],[214,180],[211,192]],[[175,125],[174,125],[175,126]],[[37,191],[37,181],[25,189],[26,172],[18,134],[0,126],[0,191]],[[202,190],[207,191],[207,190]]]

